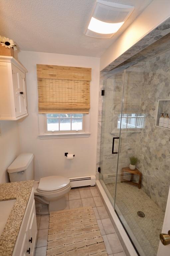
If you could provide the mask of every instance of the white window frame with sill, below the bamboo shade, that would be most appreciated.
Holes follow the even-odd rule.
[[[58,113],[56,113],[58,114]],[[90,114],[83,114],[83,130],[73,131],[48,131],[47,114],[39,114],[39,137],[40,139],[76,138],[90,136]]]

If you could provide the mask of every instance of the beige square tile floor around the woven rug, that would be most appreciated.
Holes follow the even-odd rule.
[[[108,214],[95,187],[71,189],[66,195],[66,209],[92,206],[109,256],[125,256]],[[49,215],[37,216],[38,239],[35,256],[46,256]]]

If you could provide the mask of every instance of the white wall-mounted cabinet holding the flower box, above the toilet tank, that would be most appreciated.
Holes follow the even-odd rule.
[[[13,57],[0,56],[0,120],[18,120],[28,115],[26,72]]]

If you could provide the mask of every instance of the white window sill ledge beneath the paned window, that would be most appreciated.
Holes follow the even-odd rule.
[[[63,139],[63,138],[86,138],[91,133],[58,133],[58,134],[39,134],[40,139]]]

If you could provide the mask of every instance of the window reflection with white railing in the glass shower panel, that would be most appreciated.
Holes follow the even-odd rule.
[[[121,129],[140,129],[145,127],[145,114],[122,114]],[[117,128],[120,128],[120,115]]]

